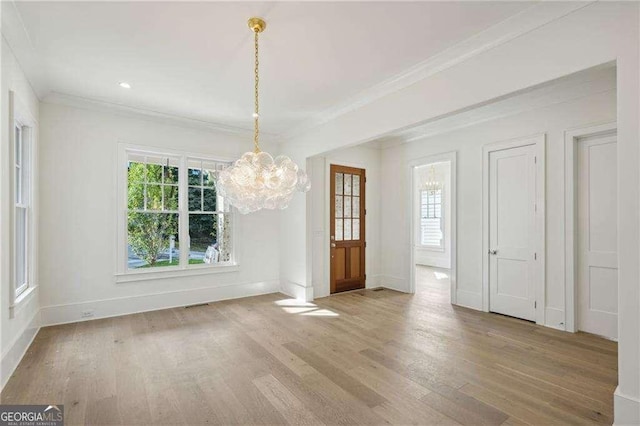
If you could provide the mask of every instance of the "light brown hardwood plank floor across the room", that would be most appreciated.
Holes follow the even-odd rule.
[[[274,294],[43,328],[0,395],[66,424],[611,423],[617,345],[416,295]],[[440,278],[443,278],[440,276]]]

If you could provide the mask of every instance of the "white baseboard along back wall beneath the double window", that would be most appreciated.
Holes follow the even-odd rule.
[[[199,303],[277,293],[279,291],[280,283],[277,280],[271,280],[257,283],[178,290],[157,294],[143,294],[117,299],[70,303],[66,305],[43,306],[41,308],[42,325],[66,324],[98,318],[116,317]],[[91,316],[83,316],[83,313],[86,312],[91,312]]]

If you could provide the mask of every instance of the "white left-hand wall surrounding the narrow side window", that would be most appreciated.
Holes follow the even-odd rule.
[[[0,181],[2,184],[0,186],[0,253],[2,253],[2,256],[0,260],[0,317],[2,320],[0,321],[0,349],[2,349],[2,361],[0,364],[0,387],[4,386],[9,379],[39,327],[39,283],[37,274],[30,283],[33,290],[22,299],[19,305],[10,308],[13,304],[13,300],[10,297],[12,279],[11,257],[9,256],[12,246],[11,221],[13,211],[13,192],[10,185],[12,181],[11,173],[13,172],[10,131],[12,131],[13,123],[10,120],[9,92],[14,92],[16,104],[20,105],[23,113],[31,116],[36,126],[39,101],[4,38],[2,39],[1,50],[2,82],[0,85],[0,103],[2,104],[2,109],[0,128],[2,144],[0,144]],[[37,128],[35,130],[37,138]],[[37,143],[37,140],[35,142]],[[34,190],[37,191],[37,187]],[[35,198],[37,198],[37,192]]]

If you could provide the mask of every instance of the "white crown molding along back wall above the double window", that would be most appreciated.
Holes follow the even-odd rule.
[[[208,130],[240,137],[253,137],[253,129],[229,126],[226,124],[216,123],[212,121],[198,120],[189,117],[182,117],[164,112],[154,111],[145,108],[137,108],[128,105],[118,104],[114,102],[102,101],[82,96],[70,95],[66,93],[51,92],[42,100],[44,103],[71,106],[81,109],[89,109],[93,111],[109,112],[116,114],[124,114],[127,117],[133,117],[143,120],[151,120],[164,124],[173,124],[182,127],[196,128]],[[273,138],[272,134],[260,133],[264,136],[265,141]]]

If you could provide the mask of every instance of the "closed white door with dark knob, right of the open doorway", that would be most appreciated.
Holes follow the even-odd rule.
[[[535,321],[535,145],[489,153],[489,310]]]

